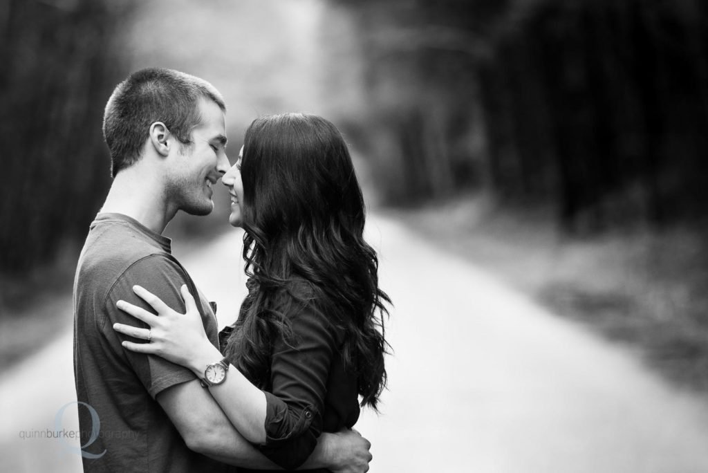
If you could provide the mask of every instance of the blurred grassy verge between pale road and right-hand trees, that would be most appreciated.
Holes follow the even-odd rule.
[[[682,387],[708,393],[708,232],[641,225],[559,231],[549,210],[466,196],[389,215],[496,274],[560,317],[637,351]]]

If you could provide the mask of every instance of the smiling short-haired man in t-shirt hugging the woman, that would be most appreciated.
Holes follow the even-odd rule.
[[[198,295],[162,232],[178,210],[212,211],[212,186],[229,169],[224,113],[211,84],[167,69],[132,74],[105,107],[113,184],[74,280],[74,375],[85,471],[275,468],[239,435],[190,370],[125,351],[124,338],[113,331],[115,322],[135,323],[115,307],[118,300],[146,307],[132,292],[137,283],[171,307],[184,308],[184,284]],[[215,314],[199,296],[207,336],[218,346]],[[357,433],[323,434],[304,468],[365,471],[369,446]]]

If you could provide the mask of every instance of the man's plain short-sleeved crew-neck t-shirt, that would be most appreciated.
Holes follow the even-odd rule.
[[[226,465],[187,448],[155,400],[193,372],[153,355],[123,348],[120,322],[147,327],[115,307],[118,300],[152,309],[132,292],[141,285],[173,309],[185,312],[180,287],[198,300],[210,341],[218,346],[217,321],[186,270],[171,255],[170,239],[130,217],[98,214],[81,251],[74,280],[74,376],[81,445],[87,472],[221,471]],[[95,414],[92,412],[95,411]],[[97,414],[97,418],[94,418]],[[92,431],[100,422],[90,445]],[[84,446],[86,445],[86,446]]]

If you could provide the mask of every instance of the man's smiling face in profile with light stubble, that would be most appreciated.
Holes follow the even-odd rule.
[[[192,130],[192,144],[173,151],[166,183],[168,202],[191,215],[208,215],[214,210],[212,186],[229,170],[226,155],[226,120],[221,108],[205,98],[198,102],[202,118]]]

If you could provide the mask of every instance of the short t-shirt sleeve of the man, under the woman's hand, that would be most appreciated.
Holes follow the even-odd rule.
[[[188,275],[183,268],[165,256],[152,255],[142,258],[125,270],[105,297],[104,313],[106,318],[100,322],[101,333],[110,349],[130,363],[135,375],[153,399],[164,389],[194,380],[196,377],[188,368],[171,363],[159,356],[144,355],[123,348],[120,343],[124,340],[137,343],[145,343],[145,341],[119,334],[113,330],[113,324],[119,322],[142,328],[149,326],[118,309],[115,304],[119,300],[124,300],[154,314],[152,307],[132,291],[134,285],[140,285],[159,297],[172,309],[184,313],[185,305],[180,292],[180,287],[183,284],[188,284]],[[204,315],[201,315],[203,319]]]

